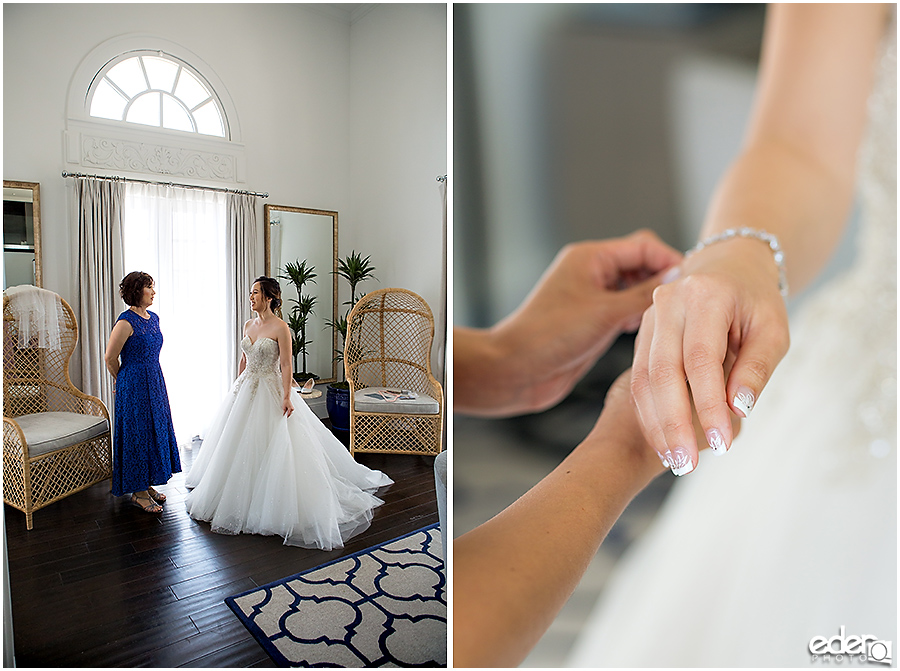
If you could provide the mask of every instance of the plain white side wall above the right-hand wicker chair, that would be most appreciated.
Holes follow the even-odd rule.
[[[443,238],[436,178],[447,173],[447,6],[378,5],[355,21],[350,79],[353,225],[341,220],[341,256],[354,249],[371,256],[378,280],[362,284],[363,291],[401,287],[422,296],[437,338]],[[440,356],[439,347],[432,355]]]

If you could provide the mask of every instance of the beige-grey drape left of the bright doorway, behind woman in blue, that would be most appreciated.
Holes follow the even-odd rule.
[[[81,387],[114,408],[113,379],[103,355],[116,317],[122,310],[119,282],[123,277],[122,208],[125,185],[77,178],[79,340]]]

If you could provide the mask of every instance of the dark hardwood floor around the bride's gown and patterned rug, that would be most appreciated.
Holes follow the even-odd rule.
[[[31,531],[4,506],[17,666],[274,666],[225,597],[438,521],[434,457],[360,454],[395,484],[343,549],[214,534],[184,509],[191,458],[182,451],[183,472],[159,488],[159,516],[113,497],[109,481],[39,510]]]

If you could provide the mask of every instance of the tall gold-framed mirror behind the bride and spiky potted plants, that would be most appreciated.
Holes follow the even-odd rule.
[[[297,305],[297,290],[285,279],[287,264],[306,262],[315,277],[303,285],[303,295],[315,298],[306,326],[306,371],[318,382],[334,382],[337,335],[328,322],[337,314],[337,212],[285,205],[266,205],[266,275],[281,284],[282,317],[289,322]],[[294,372],[303,371],[303,354],[295,359]]]

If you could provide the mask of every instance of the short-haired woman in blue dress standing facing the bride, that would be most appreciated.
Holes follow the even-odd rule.
[[[116,378],[112,493],[131,492],[136,506],[161,513],[166,495],[152,485],[164,485],[180,473],[181,460],[159,365],[159,316],[147,309],[156,294],[153,278],[129,273],[119,293],[131,307],[119,315],[106,347],[106,367]]]

